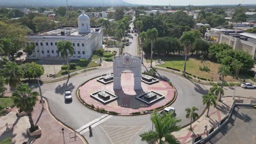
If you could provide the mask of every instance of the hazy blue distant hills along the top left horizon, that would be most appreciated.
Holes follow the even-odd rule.
[[[0,6],[5,7],[56,7],[66,6],[66,0],[0,0]],[[68,0],[68,5],[73,7],[100,7],[100,6],[127,6],[130,3],[123,0]]]

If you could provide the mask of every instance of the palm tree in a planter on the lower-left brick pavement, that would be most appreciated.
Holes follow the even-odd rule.
[[[30,131],[35,130],[35,125],[32,118],[33,107],[36,105],[38,92],[32,92],[33,87],[28,87],[27,84],[21,84],[17,87],[16,91],[13,92],[12,98],[15,106],[20,108],[21,111],[27,113],[30,119]]]

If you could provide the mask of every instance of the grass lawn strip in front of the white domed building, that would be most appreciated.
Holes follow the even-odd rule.
[[[90,61],[90,62],[80,62],[79,60],[72,60],[69,63],[76,63],[77,66],[74,69],[69,69],[70,73],[73,71],[77,71],[77,70],[81,70],[81,69],[85,69],[85,68],[91,68],[91,67],[97,67],[100,66],[100,64],[96,64],[94,61]],[[62,76],[62,75],[67,75],[67,71],[66,70],[61,70],[59,73],[56,74],[56,77]]]

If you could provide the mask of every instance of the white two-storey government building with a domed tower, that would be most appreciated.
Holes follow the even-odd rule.
[[[59,27],[37,34],[27,35],[31,43],[36,45],[32,59],[60,59],[57,54],[56,44],[58,41],[71,41],[74,47],[71,59],[90,58],[92,52],[102,47],[103,29],[102,27],[91,27],[88,15],[81,14],[78,17],[77,27]],[[56,58],[47,58],[56,57]],[[57,58],[59,57],[59,58]]]

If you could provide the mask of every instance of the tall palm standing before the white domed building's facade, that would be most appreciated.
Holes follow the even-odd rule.
[[[68,65],[68,53],[70,53],[71,56],[74,55],[74,47],[72,46],[72,43],[70,41],[59,41],[57,43],[57,53],[58,55],[61,54],[61,57],[67,61],[68,77],[70,77],[69,65]]]

